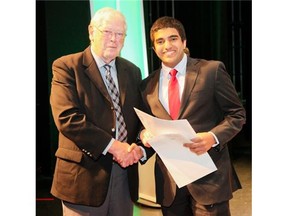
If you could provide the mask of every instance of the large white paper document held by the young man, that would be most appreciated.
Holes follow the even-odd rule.
[[[184,147],[196,133],[186,119],[164,120],[134,108],[151,133],[148,143],[162,159],[179,188],[217,170],[208,153],[197,155]]]

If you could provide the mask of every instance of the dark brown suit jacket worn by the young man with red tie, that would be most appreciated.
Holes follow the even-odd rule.
[[[242,129],[245,110],[223,63],[188,58],[186,70],[179,119],[187,119],[196,133],[212,131],[220,142],[217,149],[208,151],[217,171],[187,187],[201,204],[226,201],[232,198],[233,191],[241,188],[231,165],[227,143]],[[171,119],[158,98],[159,75],[160,69],[141,83],[145,111],[161,119]],[[148,150],[147,154],[150,157],[153,151]],[[158,155],[155,180],[157,202],[171,205],[176,184]]]

